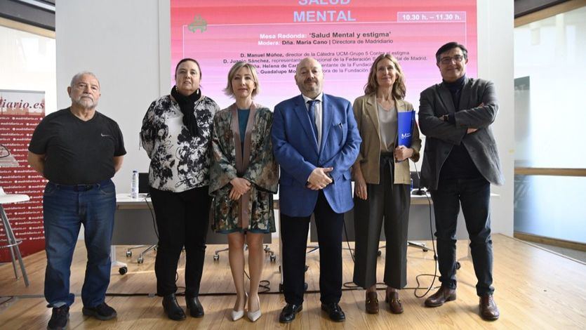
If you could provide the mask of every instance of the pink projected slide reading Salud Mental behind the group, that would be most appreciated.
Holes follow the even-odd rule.
[[[448,41],[469,51],[477,76],[477,0],[171,0],[171,75],[181,58],[201,65],[201,90],[220,107],[234,62],[258,68],[258,103],[274,107],[300,92],[295,66],[306,56],[324,67],[324,92],[350,102],[364,94],[373,60],[392,53],[406,75],[406,100],[441,81],[435,52]]]

